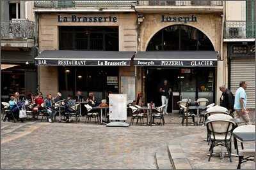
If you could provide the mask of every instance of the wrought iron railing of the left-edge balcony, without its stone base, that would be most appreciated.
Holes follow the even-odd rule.
[[[1,22],[1,38],[35,38],[35,22],[12,20]]]

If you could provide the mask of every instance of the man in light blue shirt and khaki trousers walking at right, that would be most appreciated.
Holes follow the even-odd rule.
[[[234,109],[236,110],[235,118],[242,118],[246,125],[250,125],[251,120],[248,115],[249,111],[246,109],[246,88],[246,81],[241,81],[239,83],[239,88],[236,90]]]

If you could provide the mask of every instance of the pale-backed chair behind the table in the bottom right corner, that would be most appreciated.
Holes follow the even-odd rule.
[[[241,133],[246,133],[246,132],[253,132],[255,133],[255,125],[241,125],[239,127],[236,127],[233,132],[241,132]],[[243,142],[240,141],[239,139],[234,139],[234,142],[239,142],[241,143],[241,150],[236,148],[237,150],[237,155],[238,155],[238,165],[237,169],[241,169],[241,164],[244,162],[248,161],[254,161],[255,162],[255,148],[244,148],[244,143],[253,143],[253,142]],[[235,145],[236,146],[236,145]]]

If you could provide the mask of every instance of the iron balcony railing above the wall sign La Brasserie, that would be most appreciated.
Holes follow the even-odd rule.
[[[36,8],[74,8],[74,7],[131,7],[135,6],[137,1],[125,1],[125,0],[90,0],[90,1],[35,1],[34,6]]]

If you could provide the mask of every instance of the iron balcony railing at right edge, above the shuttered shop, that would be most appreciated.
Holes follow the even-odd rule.
[[[255,21],[225,22],[225,38],[255,38]]]

